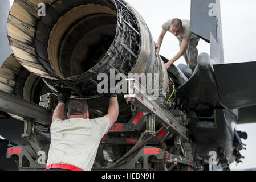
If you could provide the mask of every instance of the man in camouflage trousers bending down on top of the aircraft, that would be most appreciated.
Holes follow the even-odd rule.
[[[166,69],[170,67],[176,60],[178,60],[182,55],[184,56],[186,63],[189,67],[194,71],[197,65],[197,56],[198,51],[196,46],[199,42],[199,37],[192,32],[190,32],[190,23],[189,20],[180,20],[180,19],[170,19],[166,23],[162,25],[162,31],[158,39],[158,46],[157,52],[159,53],[160,47],[162,44],[162,40],[164,39],[164,35],[166,32],[171,32],[180,42],[180,51],[165,63]]]

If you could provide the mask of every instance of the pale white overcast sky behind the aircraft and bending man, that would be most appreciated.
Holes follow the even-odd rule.
[[[2,1],[2,0],[1,0]],[[256,61],[256,1],[255,0],[220,0],[222,13],[222,33],[224,39],[225,63]],[[11,2],[13,2],[11,0]],[[153,39],[157,42],[161,32],[161,26],[171,18],[190,19],[190,0],[127,0],[144,18]],[[198,52],[210,53],[209,44],[200,40]],[[162,43],[160,54],[168,59],[178,52],[178,40],[170,33],[167,33]],[[181,57],[176,61],[176,65],[184,63]],[[246,131],[249,135],[247,140],[242,141],[247,144],[247,150],[241,151],[245,156],[243,163],[232,169],[255,168],[256,153],[256,124],[238,125],[237,130]]]

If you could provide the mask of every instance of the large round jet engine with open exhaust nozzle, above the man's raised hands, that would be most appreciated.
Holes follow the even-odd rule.
[[[94,96],[99,73],[157,73],[166,93],[168,75],[151,32],[132,6],[119,0],[14,1],[8,35],[19,63],[50,85],[66,84],[80,96]],[[17,22],[22,22],[18,24]],[[152,84],[154,85],[154,83]]]

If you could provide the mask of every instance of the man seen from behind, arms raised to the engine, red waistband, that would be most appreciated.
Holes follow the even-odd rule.
[[[84,100],[71,100],[67,116],[62,120],[70,92],[58,95],[58,105],[52,115],[51,144],[46,171],[90,171],[101,138],[116,122],[119,106],[116,94],[109,94],[108,114],[89,119],[88,105]]]

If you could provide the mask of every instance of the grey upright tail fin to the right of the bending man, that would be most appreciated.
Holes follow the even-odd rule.
[[[220,0],[192,0],[190,31],[210,43],[213,64],[224,64]]]

